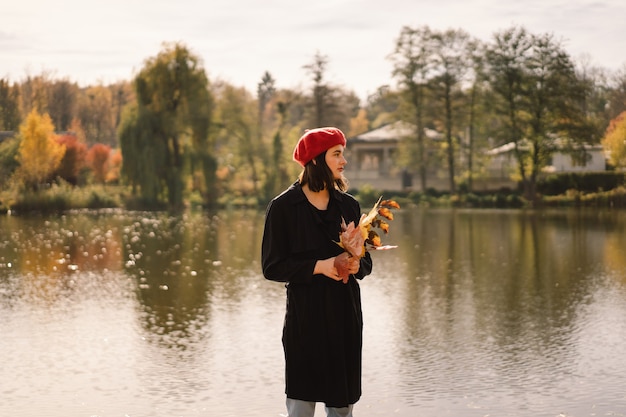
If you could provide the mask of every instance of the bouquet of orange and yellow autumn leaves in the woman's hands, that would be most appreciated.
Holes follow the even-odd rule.
[[[383,200],[381,196],[367,215],[361,215],[358,225],[355,225],[354,222],[346,224],[346,221],[341,219],[341,232],[339,233],[339,242],[337,244],[350,257],[357,259],[365,256],[365,252],[368,250],[396,248],[397,246],[383,245],[379,234],[373,230],[373,228],[378,228],[385,234],[389,233],[389,223],[384,219],[393,220],[392,208],[399,209],[400,205],[393,200]],[[337,272],[344,283],[348,282],[348,277],[350,276],[348,259],[339,256],[335,258],[335,268],[337,268]]]

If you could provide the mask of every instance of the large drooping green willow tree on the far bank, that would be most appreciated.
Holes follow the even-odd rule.
[[[133,190],[148,204],[182,207],[185,160],[199,156],[210,204],[216,167],[208,148],[213,103],[200,59],[179,43],[165,44],[133,84],[137,103],[126,110],[119,129],[123,174]]]

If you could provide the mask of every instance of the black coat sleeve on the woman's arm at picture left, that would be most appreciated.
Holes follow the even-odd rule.
[[[263,276],[271,281],[310,283],[316,259],[296,259],[291,253],[289,230],[292,222],[289,205],[273,200],[265,213],[265,228],[261,244]]]

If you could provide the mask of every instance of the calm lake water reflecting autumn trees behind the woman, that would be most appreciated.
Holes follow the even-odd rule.
[[[0,415],[284,415],[262,230],[257,211],[1,216]],[[626,212],[403,209],[383,240],[355,416],[626,415]]]

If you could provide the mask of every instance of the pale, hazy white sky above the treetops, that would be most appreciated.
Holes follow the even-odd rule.
[[[210,81],[256,93],[305,88],[305,65],[366,99],[394,85],[389,55],[404,26],[462,29],[489,41],[512,26],[550,33],[579,62],[626,67],[624,0],[1,0],[0,78],[49,74],[81,86],[130,81],[164,42],[198,56]]]

